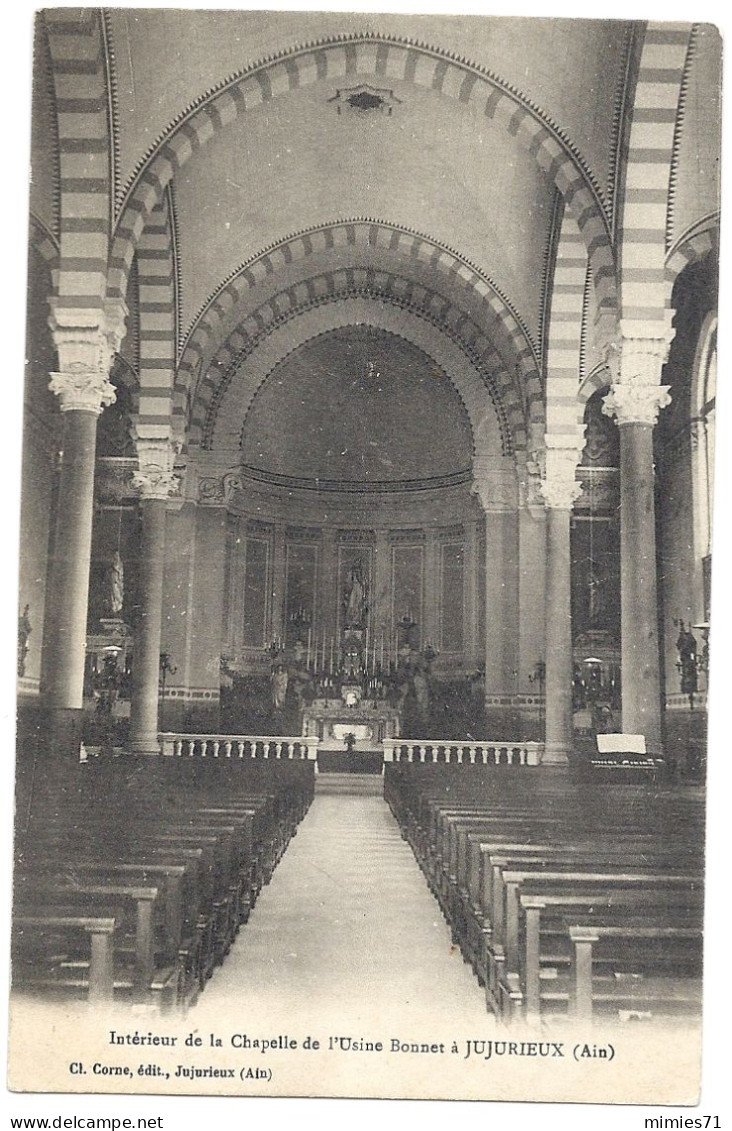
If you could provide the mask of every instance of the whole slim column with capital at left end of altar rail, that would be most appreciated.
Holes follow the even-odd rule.
[[[130,752],[158,754],[158,681],[165,570],[165,508],[178,491],[173,450],[167,440],[138,439],[139,470],[132,483],[140,493],[141,541],[139,620],[132,656]]]

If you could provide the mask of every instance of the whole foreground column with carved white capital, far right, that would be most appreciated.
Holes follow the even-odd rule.
[[[656,592],[653,429],[670,404],[658,383],[673,337],[670,326],[654,337],[631,336],[621,322],[620,380],[603,412],[620,429],[620,632],[622,728],[644,734],[649,753],[661,753],[661,676]]]

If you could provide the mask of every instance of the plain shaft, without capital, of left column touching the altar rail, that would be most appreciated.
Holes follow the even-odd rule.
[[[165,567],[165,500],[141,499],[139,621],[132,661],[130,751],[157,754],[158,680]]]

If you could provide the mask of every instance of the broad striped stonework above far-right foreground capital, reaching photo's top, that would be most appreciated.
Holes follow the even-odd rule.
[[[628,138],[619,247],[621,317],[665,325],[666,231],[692,27],[646,27]]]

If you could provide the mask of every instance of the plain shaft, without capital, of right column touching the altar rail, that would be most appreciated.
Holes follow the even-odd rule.
[[[569,516],[546,511],[546,725],[544,763],[566,765],[572,745]]]

